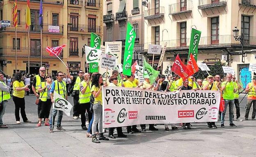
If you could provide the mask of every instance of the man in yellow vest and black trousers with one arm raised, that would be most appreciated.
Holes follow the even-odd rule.
[[[74,88],[73,88],[73,93],[72,93],[73,102],[74,102],[73,119],[78,119],[79,115],[80,115],[80,105],[78,103],[79,93],[80,93],[79,84],[83,80],[82,75],[84,74],[84,72],[82,70],[80,70],[79,73],[78,73],[78,76],[71,76],[70,73],[69,73],[69,68],[68,67],[66,67],[66,70],[67,70],[67,77],[70,78],[70,80],[75,81]]]

